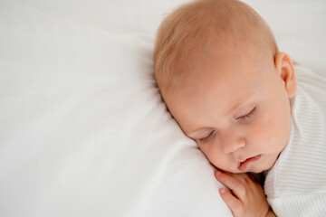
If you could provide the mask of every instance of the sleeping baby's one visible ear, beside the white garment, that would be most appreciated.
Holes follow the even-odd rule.
[[[292,99],[295,95],[297,84],[295,80],[295,71],[289,54],[286,52],[278,52],[275,56],[275,67],[278,75],[284,82],[289,99]]]

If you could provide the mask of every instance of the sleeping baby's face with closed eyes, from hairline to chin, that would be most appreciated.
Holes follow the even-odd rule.
[[[185,81],[187,87],[162,93],[184,133],[219,169],[260,173],[271,168],[291,127],[289,95],[273,60],[214,53],[200,71]]]

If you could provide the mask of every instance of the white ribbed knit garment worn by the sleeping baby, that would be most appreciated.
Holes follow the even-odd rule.
[[[277,216],[326,216],[326,73],[296,66],[292,129],[265,179],[264,191]]]

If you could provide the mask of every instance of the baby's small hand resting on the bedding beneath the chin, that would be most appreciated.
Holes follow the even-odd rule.
[[[231,191],[220,189],[220,194],[236,217],[267,216],[268,203],[262,185],[247,174],[229,174],[216,171],[216,179]],[[254,179],[254,177],[253,177]]]

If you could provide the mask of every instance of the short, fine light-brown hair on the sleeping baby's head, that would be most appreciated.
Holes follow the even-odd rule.
[[[268,24],[245,3],[197,0],[179,6],[158,28],[154,71],[159,90],[180,85],[209,47],[228,42],[252,45],[270,58],[278,52]]]

